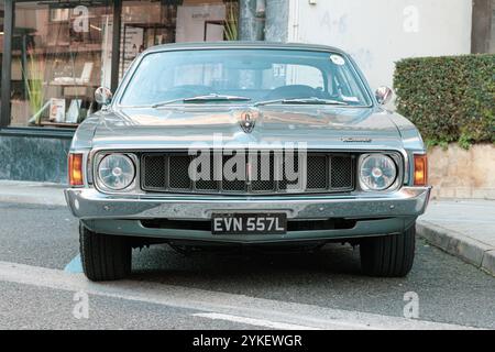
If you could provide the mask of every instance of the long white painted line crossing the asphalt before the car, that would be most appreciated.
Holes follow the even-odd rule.
[[[0,282],[300,326],[305,329],[469,329],[469,327],[286,302],[141,280],[91,283],[82,274],[0,262]],[[239,319],[239,318],[235,318]],[[251,320],[254,322],[254,320]]]

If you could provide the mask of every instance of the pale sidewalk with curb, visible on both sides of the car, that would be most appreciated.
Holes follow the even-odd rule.
[[[65,206],[65,186],[0,180],[0,202]],[[418,235],[495,276],[495,200],[437,200],[418,219]]]

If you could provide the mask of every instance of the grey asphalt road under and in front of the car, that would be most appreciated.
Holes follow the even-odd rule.
[[[495,329],[495,278],[419,239],[406,278],[362,276],[351,246],[184,255],[156,245],[134,251],[129,280],[88,286],[64,272],[78,254],[77,221],[66,208],[0,204],[0,329],[359,329],[366,321]],[[88,319],[73,315],[80,287]],[[410,292],[416,320],[404,318]]]

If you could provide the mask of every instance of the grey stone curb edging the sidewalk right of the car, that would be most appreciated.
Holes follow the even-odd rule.
[[[495,276],[495,248],[425,220],[416,223],[416,231],[432,245]]]

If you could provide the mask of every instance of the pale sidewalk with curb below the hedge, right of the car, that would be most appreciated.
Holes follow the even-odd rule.
[[[417,233],[443,251],[495,276],[495,200],[436,200]]]

